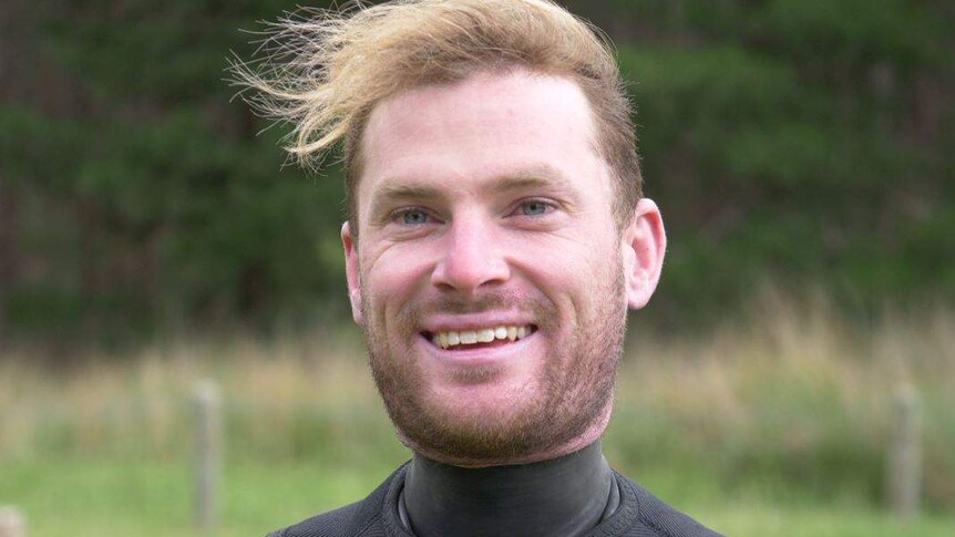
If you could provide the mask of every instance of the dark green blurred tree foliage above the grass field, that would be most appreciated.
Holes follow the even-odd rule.
[[[670,234],[664,318],[764,278],[863,306],[955,297],[949,3],[568,3],[631,81]],[[341,311],[339,166],[284,167],[281,127],[224,81],[259,39],[239,29],[294,8],[0,8],[0,326],[101,340]]]

